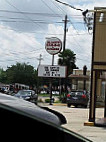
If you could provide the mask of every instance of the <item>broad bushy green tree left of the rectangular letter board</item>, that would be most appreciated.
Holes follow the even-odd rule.
[[[36,84],[36,71],[31,65],[17,63],[6,70],[8,83],[22,83],[33,86]]]

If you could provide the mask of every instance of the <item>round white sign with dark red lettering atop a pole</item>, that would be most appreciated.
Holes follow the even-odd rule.
[[[45,49],[49,54],[55,55],[61,51],[62,42],[56,37],[47,38],[45,43]]]

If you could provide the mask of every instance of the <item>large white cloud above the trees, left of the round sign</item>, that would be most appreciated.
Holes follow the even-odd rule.
[[[18,33],[5,26],[0,26],[0,33],[1,67],[6,68],[16,62],[32,62],[34,65],[33,61],[37,60],[42,45],[33,34]]]

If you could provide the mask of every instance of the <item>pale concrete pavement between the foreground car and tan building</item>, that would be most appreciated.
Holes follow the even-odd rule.
[[[67,124],[63,127],[72,130],[93,142],[106,142],[106,129],[103,127],[84,126],[84,122],[88,121],[89,109],[84,108],[68,108],[66,105],[48,105],[49,108],[61,112],[67,119]],[[97,109],[97,117],[103,115],[103,109]]]

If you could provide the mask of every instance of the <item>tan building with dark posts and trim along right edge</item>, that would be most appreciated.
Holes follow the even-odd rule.
[[[89,122],[106,126],[106,8],[95,8],[92,48],[92,69],[90,88]],[[98,101],[99,100],[99,101]],[[103,103],[100,106],[98,102]],[[102,115],[97,118],[97,107],[102,107]]]

